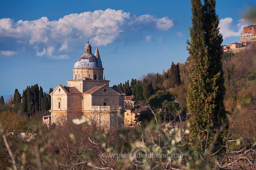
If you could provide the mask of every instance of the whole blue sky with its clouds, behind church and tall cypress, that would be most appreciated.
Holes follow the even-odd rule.
[[[232,2],[232,3],[230,3]],[[223,44],[239,42],[251,0],[217,0]],[[0,1],[0,95],[67,85],[89,39],[110,85],[170,68],[188,57],[189,0]]]

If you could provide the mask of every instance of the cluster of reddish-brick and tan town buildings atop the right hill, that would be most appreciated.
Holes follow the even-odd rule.
[[[239,52],[240,48],[250,46],[256,43],[256,25],[246,26],[243,29],[243,33],[240,34],[239,43],[234,42],[230,45],[223,45],[224,52],[232,50],[233,52]]]

